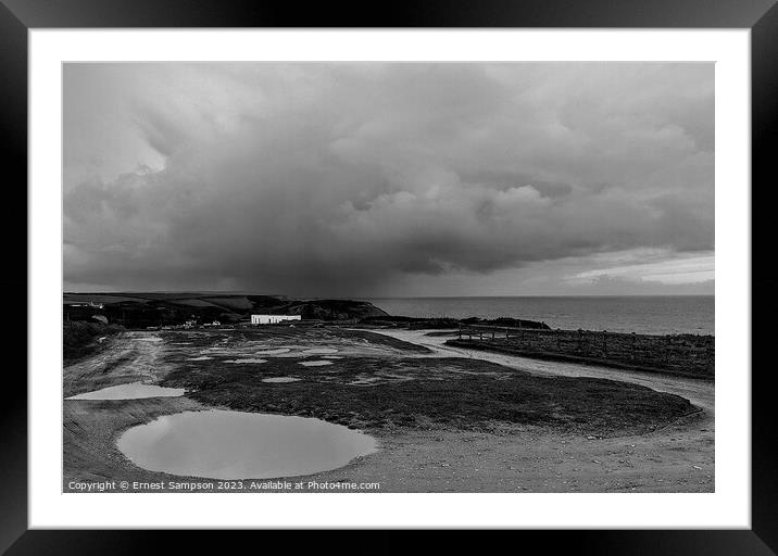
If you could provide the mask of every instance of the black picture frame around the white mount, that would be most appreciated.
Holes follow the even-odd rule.
[[[770,334],[778,325],[770,277],[771,219],[776,204],[773,144],[778,126],[778,7],[776,0],[398,0],[374,5],[205,0],[0,0],[0,150],[7,214],[1,220],[7,271],[2,285],[10,345],[27,339],[27,33],[34,28],[88,27],[598,27],[750,28],[752,55],[752,529],[695,531],[527,531],[544,551],[584,554],[776,554],[778,468],[773,429]],[[10,172],[10,174],[9,174]],[[770,179],[773,178],[773,179]],[[719,233],[726,230],[719,229]],[[757,257],[758,253],[763,257]],[[13,263],[13,264],[11,264]],[[22,270],[22,268],[24,270]],[[18,292],[26,292],[25,296]],[[22,315],[25,315],[24,324]],[[22,338],[24,336],[24,338]],[[0,552],[8,554],[135,554],[148,552],[149,535],[133,531],[27,530],[26,354],[4,369],[0,450]],[[760,365],[760,363],[762,365]],[[736,369],[724,369],[733,371]],[[267,533],[264,533],[267,534]],[[202,543],[199,534],[190,541]],[[361,543],[350,538],[349,544]],[[450,536],[460,547],[457,534]],[[288,538],[279,538],[288,542]],[[176,543],[180,542],[176,539]],[[388,532],[371,541],[373,552],[407,552]],[[514,541],[511,541],[514,542]],[[524,541],[523,541],[524,542]],[[201,547],[204,547],[201,544]],[[336,546],[337,548],[338,546]],[[342,545],[340,546],[342,548]],[[237,549],[237,545],[236,545]],[[321,549],[319,549],[321,552]]]

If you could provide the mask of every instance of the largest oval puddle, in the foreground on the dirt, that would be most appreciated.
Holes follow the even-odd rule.
[[[210,479],[311,475],[377,450],[373,437],[319,419],[224,409],[165,415],[116,444],[143,469]]]

